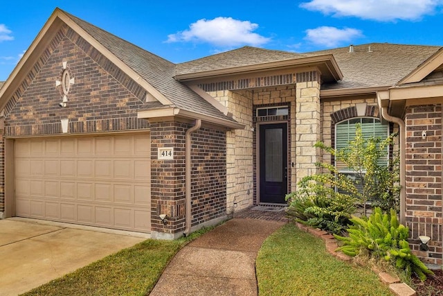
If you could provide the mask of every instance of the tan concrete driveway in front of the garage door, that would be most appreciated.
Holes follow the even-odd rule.
[[[0,296],[24,293],[145,239],[0,220]]]

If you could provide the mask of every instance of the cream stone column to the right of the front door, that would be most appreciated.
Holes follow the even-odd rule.
[[[317,173],[320,161],[320,73],[297,73],[296,91],[296,182]]]

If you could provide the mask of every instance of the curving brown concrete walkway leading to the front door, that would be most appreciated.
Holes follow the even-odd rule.
[[[183,247],[150,295],[257,295],[257,252],[282,225],[271,220],[229,220]]]

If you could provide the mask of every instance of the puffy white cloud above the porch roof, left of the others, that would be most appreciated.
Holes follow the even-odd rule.
[[[253,33],[258,28],[251,21],[239,21],[232,17],[199,19],[190,24],[189,30],[168,35],[167,42],[207,42],[216,46],[260,46],[270,38]]]

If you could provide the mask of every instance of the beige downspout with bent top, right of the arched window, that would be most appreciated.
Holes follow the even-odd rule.
[[[379,107],[381,108],[381,116],[387,121],[397,123],[399,125],[400,134],[400,223],[406,225],[406,125],[402,119],[390,116],[388,107],[381,107],[381,99],[379,98]]]

